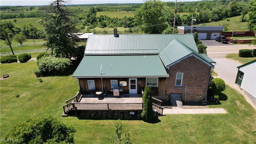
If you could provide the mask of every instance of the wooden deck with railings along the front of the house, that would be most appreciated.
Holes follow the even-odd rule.
[[[154,101],[154,100],[153,100]],[[143,102],[141,94],[123,94],[120,96],[113,96],[113,94],[107,95],[95,95],[95,94],[81,94],[78,92],[76,96],[66,100],[66,104],[63,106],[64,115],[72,115],[74,113],[77,116],[77,112],[90,113],[97,111],[96,113],[103,114],[107,112],[118,113],[122,112],[135,112],[136,114],[142,112]],[[157,110],[157,114],[162,115],[162,107],[157,104],[153,104],[153,108]],[[63,116],[63,115],[62,115]]]

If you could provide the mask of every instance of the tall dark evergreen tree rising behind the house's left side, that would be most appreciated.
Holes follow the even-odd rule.
[[[50,53],[58,57],[71,58],[76,48],[78,32],[76,22],[72,20],[72,12],[66,7],[66,0],[55,0],[46,8],[46,16],[39,21],[46,32],[46,46]]]

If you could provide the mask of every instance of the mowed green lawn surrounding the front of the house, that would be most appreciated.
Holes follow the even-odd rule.
[[[1,138],[18,121],[43,114],[56,116],[66,124],[74,124],[76,144],[105,144],[114,132],[113,120],[79,120],[62,118],[62,105],[78,91],[77,80],[69,76],[39,78],[34,75],[36,62],[0,64]],[[19,98],[15,94],[20,94]],[[255,144],[256,111],[236,90],[226,87],[220,103],[210,108],[224,108],[227,114],[177,114],[160,116],[154,123],[122,120],[134,144]],[[124,131],[123,131],[124,134]]]

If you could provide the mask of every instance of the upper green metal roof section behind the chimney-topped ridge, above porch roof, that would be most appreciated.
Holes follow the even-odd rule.
[[[158,54],[172,40],[196,52],[192,34],[89,35],[84,54]]]

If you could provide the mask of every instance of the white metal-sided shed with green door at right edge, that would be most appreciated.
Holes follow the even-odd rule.
[[[236,84],[256,104],[256,60],[238,66]]]

